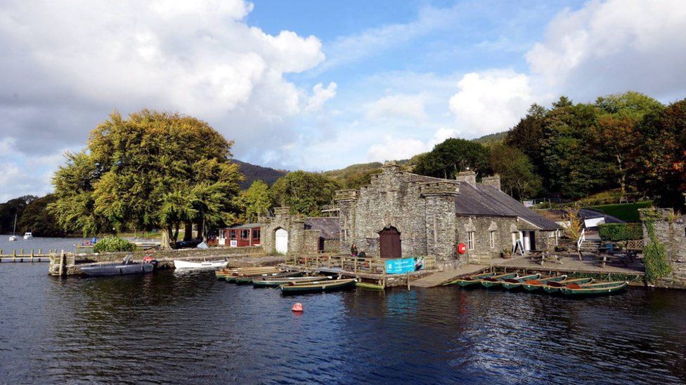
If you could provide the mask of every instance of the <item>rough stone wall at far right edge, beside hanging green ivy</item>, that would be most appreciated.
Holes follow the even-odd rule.
[[[686,289],[686,215],[676,217],[673,210],[666,208],[640,209],[643,222],[643,244],[650,241],[645,227],[648,213],[656,217],[653,220],[655,236],[667,249],[667,260],[671,266],[671,275],[656,282],[656,286],[665,288]]]

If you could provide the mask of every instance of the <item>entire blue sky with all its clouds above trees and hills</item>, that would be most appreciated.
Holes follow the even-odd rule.
[[[288,170],[408,158],[533,102],[686,96],[677,0],[4,1],[0,201],[45,194],[113,110],[208,121]]]

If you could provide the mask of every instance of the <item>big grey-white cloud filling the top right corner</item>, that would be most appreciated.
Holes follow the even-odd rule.
[[[559,13],[526,59],[541,87],[556,93],[673,97],[686,88],[685,30],[681,0],[590,1]]]

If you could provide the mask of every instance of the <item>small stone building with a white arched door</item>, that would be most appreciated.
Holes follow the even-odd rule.
[[[283,207],[276,208],[272,217],[260,217],[259,222],[266,252],[311,254],[340,249],[337,217],[301,217]]]

